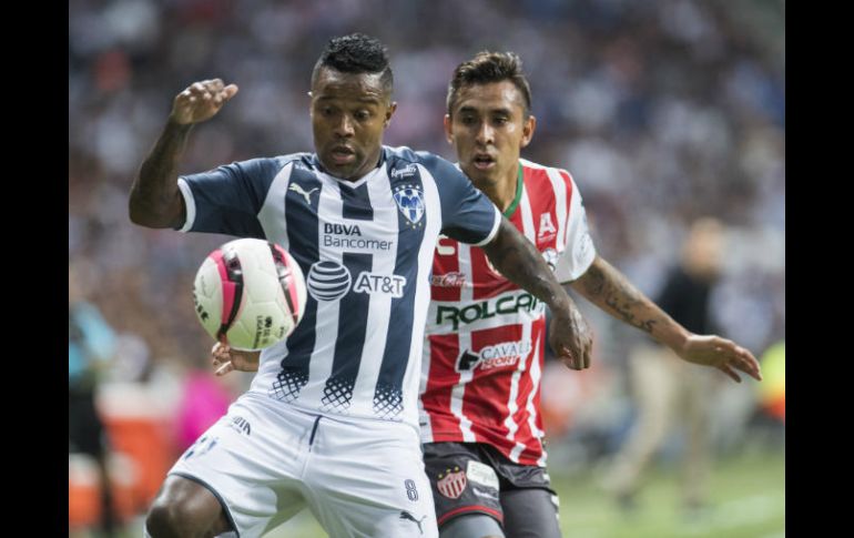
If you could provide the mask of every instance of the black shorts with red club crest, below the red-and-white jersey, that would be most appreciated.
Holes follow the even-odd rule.
[[[532,490],[537,495],[531,499],[548,505],[538,506],[536,512],[551,514],[550,524],[557,528],[557,495],[542,467],[515,464],[481,443],[427,443],[424,464],[439,526],[467,514],[486,514],[505,526],[502,499],[526,503],[516,494]]]

